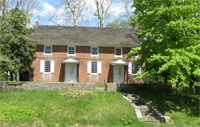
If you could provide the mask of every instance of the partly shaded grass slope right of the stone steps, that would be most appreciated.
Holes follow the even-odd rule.
[[[192,94],[144,92],[142,97],[150,98],[165,116],[171,118],[170,123],[161,126],[200,126],[200,96]]]

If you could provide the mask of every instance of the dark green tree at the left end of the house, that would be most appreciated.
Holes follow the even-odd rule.
[[[0,16],[0,20],[0,51],[4,57],[12,61],[12,64],[2,61],[2,70],[10,71],[15,80],[17,73],[29,70],[35,44],[28,41],[27,36],[33,29],[26,27],[26,14],[17,6],[6,15]]]

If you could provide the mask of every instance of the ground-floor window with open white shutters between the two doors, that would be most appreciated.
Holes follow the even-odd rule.
[[[88,74],[101,74],[101,62],[88,61],[87,73]]]

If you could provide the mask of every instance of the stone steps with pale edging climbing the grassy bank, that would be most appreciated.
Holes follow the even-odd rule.
[[[147,123],[159,122],[153,110],[147,105],[143,104],[139,96],[133,94],[124,94],[122,96],[132,103],[136,110],[136,114],[141,121],[145,121]]]

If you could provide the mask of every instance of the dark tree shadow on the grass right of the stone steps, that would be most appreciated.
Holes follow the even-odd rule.
[[[152,101],[164,115],[166,112],[183,112],[188,116],[200,116],[199,95],[164,93],[164,92],[144,92],[140,94],[143,98]],[[149,99],[148,99],[149,98]]]

